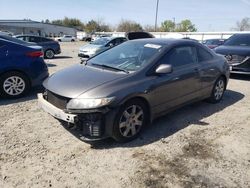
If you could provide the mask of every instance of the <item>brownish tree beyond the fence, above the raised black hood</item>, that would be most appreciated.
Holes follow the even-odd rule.
[[[131,20],[121,20],[117,26],[119,32],[142,31],[142,26]]]

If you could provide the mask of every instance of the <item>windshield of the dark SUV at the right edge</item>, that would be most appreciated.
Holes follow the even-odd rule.
[[[225,43],[225,46],[250,46],[250,35],[233,35]]]

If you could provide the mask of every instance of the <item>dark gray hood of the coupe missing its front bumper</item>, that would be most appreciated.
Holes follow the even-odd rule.
[[[44,81],[43,86],[57,95],[76,98],[91,89],[126,76],[123,72],[79,64],[53,74]]]

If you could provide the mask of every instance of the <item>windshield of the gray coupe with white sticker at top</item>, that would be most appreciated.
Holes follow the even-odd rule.
[[[129,41],[107,50],[87,61],[87,64],[109,66],[124,71],[136,71],[151,62],[162,50],[159,44]]]

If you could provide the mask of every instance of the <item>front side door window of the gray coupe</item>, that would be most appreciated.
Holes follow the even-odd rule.
[[[165,64],[171,64],[173,67],[197,63],[196,49],[191,46],[174,48],[163,57],[162,61]]]

